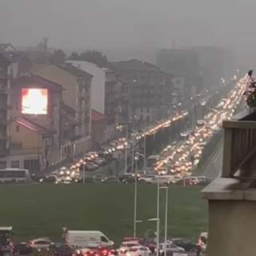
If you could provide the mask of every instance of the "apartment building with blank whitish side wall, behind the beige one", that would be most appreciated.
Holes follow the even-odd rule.
[[[91,86],[91,107],[106,117],[107,122],[107,140],[111,140],[115,137],[116,126],[118,122],[123,119],[119,108],[120,95],[117,96],[117,84],[116,75],[113,70],[106,68],[100,68],[94,63],[85,61],[66,61],[72,63],[74,66],[81,70],[84,70],[94,77],[92,78]],[[120,82],[118,84],[120,86]],[[126,87],[126,83],[122,83],[122,86]],[[123,89],[122,89],[123,90]],[[126,104],[127,102],[124,102]]]

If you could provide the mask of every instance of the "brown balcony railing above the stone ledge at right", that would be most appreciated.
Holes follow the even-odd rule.
[[[256,177],[256,110],[223,122],[222,178]]]

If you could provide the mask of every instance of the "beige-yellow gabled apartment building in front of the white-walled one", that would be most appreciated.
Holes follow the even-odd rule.
[[[34,74],[62,85],[63,102],[75,111],[75,141],[71,156],[90,150],[90,95],[93,76],[71,63],[44,66],[34,70]]]

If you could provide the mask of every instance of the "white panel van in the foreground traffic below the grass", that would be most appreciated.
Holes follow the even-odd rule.
[[[66,232],[66,243],[77,246],[113,246],[110,241],[100,231],[68,230]]]

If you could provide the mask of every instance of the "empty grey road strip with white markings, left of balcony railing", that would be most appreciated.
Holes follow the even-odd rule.
[[[222,151],[223,147],[220,146],[217,153],[212,158],[210,164],[206,167],[206,170],[202,173],[202,176],[206,176],[206,178],[214,179],[217,178],[222,169]]]

